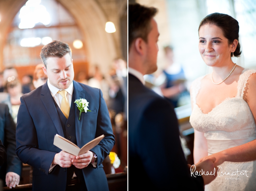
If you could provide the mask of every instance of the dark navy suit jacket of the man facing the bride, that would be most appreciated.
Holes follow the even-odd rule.
[[[204,190],[189,173],[173,106],[132,74],[128,82],[131,190]]]

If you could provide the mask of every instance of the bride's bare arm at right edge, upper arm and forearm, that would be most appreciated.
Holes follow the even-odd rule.
[[[254,121],[256,121],[256,74],[252,74],[247,81],[247,86],[244,91],[244,100],[248,103],[251,112],[254,117]],[[211,156],[204,157],[200,159],[200,161],[210,158],[216,157],[217,165],[222,164],[225,161],[229,162],[247,162],[256,160],[256,139],[250,141],[248,143],[232,147],[218,153],[215,153]]]

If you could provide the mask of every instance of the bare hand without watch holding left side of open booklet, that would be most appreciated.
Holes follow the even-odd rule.
[[[55,154],[52,164],[60,165],[63,168],[70,167],[72,165],[72,159],[75,158],[76,156],[62,150],[60,153]]]

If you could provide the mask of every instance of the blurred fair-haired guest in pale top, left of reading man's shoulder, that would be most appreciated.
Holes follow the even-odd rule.
[[[12,118],[17,123],[17,114],[20,108],[20,97],[23,95],[22,86],[19,80],[7,81],[5,91],[9,93],[11,99]]]

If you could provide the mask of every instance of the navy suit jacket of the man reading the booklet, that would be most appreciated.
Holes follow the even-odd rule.
[[[107,105],[100,89],[73,81],[75,99],[86,99],[91,112],[81,113],[76,107],[75,128],[78,147],[104,134],[105,138],[91,149],[98,157],[97,168],[91,164],[83,168],[88,191],[108,190],[108,182],[101,164],[114,146],[114,135]],[[52,160],[61,149],[53,145],[56,134],[64,137],[60,117],[47,83],[23,95],[17,117],[17,156],[23,163],[33,166],[33,190],[65,190],[67,168],[56,165],[48,173]],[[75,104],[75,103],[71,103]],[[70,110],[71,111],[71,110]],[[70,114],[71,115],[71,114]]]

